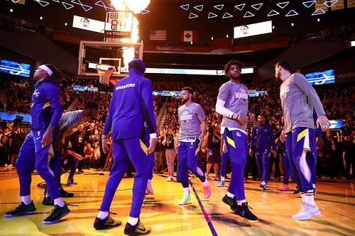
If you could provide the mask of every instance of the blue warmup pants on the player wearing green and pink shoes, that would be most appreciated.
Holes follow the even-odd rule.
[[[188,188],[189,186],[189,176],[187,174],[189,169],[202,182],[206,180],[206,176],[204,176],[200,167],[197,167],[198,153],[200,151],[199,143],[200,140],[198,139],[191,142],[179,141],[178,143],[177,180],[182,184],[183,188]],[[197,169],[200,169],[200,174],[197,172]]]

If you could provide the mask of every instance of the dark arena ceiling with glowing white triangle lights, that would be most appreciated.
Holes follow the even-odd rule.
[[[149,1],[129,2],[134,5]],[[259,67],[300,40],[322,37],[324,30],[328,32],[349,28],[351,35],[355,23],[355,7],[351,4],[354,1],[151,0],[135,16],[139,21],[139,38],[145,45],[209,48],[213,40],[226,37],[234,45],[233,52],[218,55],[200,52],[147,52],[147,64],[155,67],[166,67],[167,64],[193,68],[221,67],[227,60],[238,57],[249,66]],[[23,30],[49,30],[53,34],[67,33],[86,40],[102,40],[102,33],[73,28],[73,17],[105,21],[107,11],[112,10],[109,0],[1,0],[0,20],[16,21],[20,30],[21,27]],[[262,21],[272,21],[272,33],[233,39],[235,26]],[[32,29],[28,28],[31,24]],[[151,34],[155,30],[164,30],[165,40],[151,40]],[[182,41],[181,34],[184,30],[191,30],[195,34],[192,45]],[[278,45],[280,39],[283,43]],[[77,55],[77,40],[55,42]],[[285,42],[288,44],[285,45]],[[263,46],[253,47],[260,43]],[[271,43],[273,47],[268,47]]]

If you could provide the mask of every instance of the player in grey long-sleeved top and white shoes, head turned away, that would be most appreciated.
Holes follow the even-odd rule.
[[[275,78],[282,81],[280,99],[285,125],[280,138],[286,142],[302,199],[300,212],[292,218],[307,220],[321,214],[314,197],[317,151],[313,110],[317,114],[316,123],[323,130],[329,127],[329,120],[315,89],[302,74],[291,74],[289,62],[282,60],[275,64]]]

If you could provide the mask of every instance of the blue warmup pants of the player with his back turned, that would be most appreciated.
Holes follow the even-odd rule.
[[[146,150],[145,143],[139,137],[112,140],[113,164],[106,183],[100,210],[109,211],[117,187],[127,170],[129,160],[131,160],[134,169],[136,169],[136,174],[134,175],[132,205],[129,216],[133,218],[139,217],[148,181],[148,155]]]

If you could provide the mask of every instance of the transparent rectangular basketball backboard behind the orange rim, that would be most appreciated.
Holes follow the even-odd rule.
[[[116,72],[112,78],[126,77],[128,64],[133,58],[143,59],[142,43],[80,41],[78,77],[99,78],[97,64],[111,64]]]

